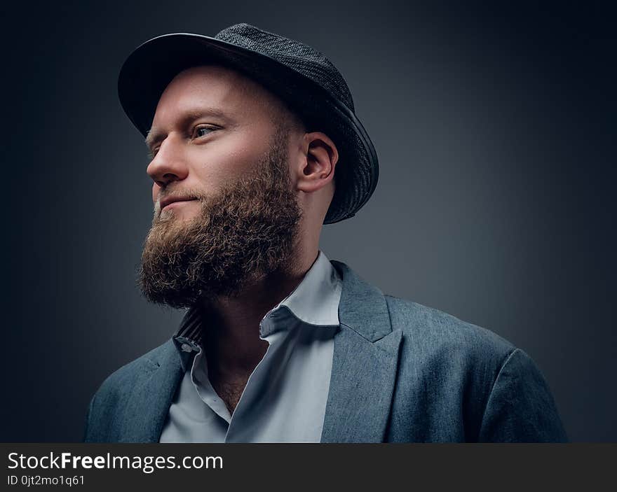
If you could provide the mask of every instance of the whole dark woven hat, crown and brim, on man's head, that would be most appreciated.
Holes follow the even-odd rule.
[[[330,136],[339,161],[324,224],[353,217],[377,186],[377,153],[355,116],[343,76],[309,45],[244,23],[226,27],[213,38],[189,33],[152,38],[128,56],[118,76],[118,96],[137,129],[147,136],[158,99],[180,71],[208,62],[261,83],[285,101],[308,132]]]

